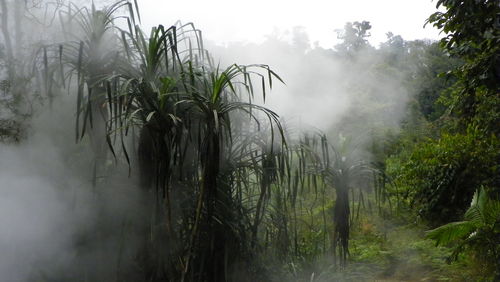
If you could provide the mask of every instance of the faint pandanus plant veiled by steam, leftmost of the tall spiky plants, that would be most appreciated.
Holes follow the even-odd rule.
[[[114,25],[114,14],[126,6],[126,1],[118,1],[104,9],[96,9],[92,3],[90,9],[78,8],[69,3],[67,11],[59,13],[66,42],[58,45],[58,51],[52,57],[54,63],[46,71],[45,84],[59,82],[61,86],[72,89],[76,81],[77,112],[76,140],[80,141],[87,133],[94,153],[93,185],[96,186],[97,172],[106,160],[110,111],[105,108],[106,86],[123,64],[120,49],[115,48],[119,41],[118,30]],[[47,66],[47,47],[43,49],[43,60]],[[52,97],[52,87],[45,87]]]

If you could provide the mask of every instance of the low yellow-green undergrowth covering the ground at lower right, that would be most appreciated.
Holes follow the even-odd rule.
[[[395,216],[391,218],[396,218]],[[425,238],[423,224],[364,214],[353,225],[350,259],[336,269],[329,255],[294,259],[274,269],[271,281],[492,281],[471,256],[448,263],[450,247]],[[269,266],[269,265],[268,265]]]

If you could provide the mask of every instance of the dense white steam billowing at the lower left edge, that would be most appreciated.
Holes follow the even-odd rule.
[[[65,163],[57,140],[67,117],[38,117],[22,145],[0,145],[0,277],[25,281],[33,272],[53,272],[72,255],[77,228],[95,216],[85,178]],[[54,119],[55,120],[55,119]],[[53,121],[54,121],[53,120]]]

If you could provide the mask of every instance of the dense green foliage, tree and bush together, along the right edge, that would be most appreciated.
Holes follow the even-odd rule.
[[[430,236],[444,244],[462,240],[453,258],[468,246],[483,254],[476,259],[494,272],[488,277],[498,279],[500,6],[498,1],[437,1],[437,6],[446,11],[428,22],[447,33],[441,47],[463,64],[448,71],[456,82],[440,92],[439,101],[448,110],[434,122],[435,136],[417,143],[395,174],[432,225],[459,220],[465,213],[464,224],[445,225]]]

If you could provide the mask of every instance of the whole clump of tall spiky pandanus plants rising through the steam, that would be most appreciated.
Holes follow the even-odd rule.
[[[120,7],[129,7],[128,30],[113,25]],[[230,250],[241,243],[232,220],[242,199],[222,181],[231,173],[221,171],[235,134],[241,134],[232,120],[246,115],[260,126],[265,117],[284,140],[277,114],[250,102],[254,79],[261,80],[264,99],[272,80],[281,79],[266,65],[215,67],[191,24],[158,26],[147,38],[128,1],[71,16],[84,32],[80,40],[61,45],[65,60],[60,61],[66,63],[61,69],[69,70],[63,78],[75,75],[78,82],[77,138],[90,132],[96,156],[105,156],[100,145],[107,143],[115,158],[121,151],[131,164],[127,139],[135,139],[129,131],[136,129],[140,186],[156,187],[153,236],[143,256],[146,279],[227,280],[234,261]],[[122,44],[102,48],[105,37],[114,43],[121,38]],[[96,130],[97,113],[102,131]],[[174,210],[177,201],[185,205]]]

